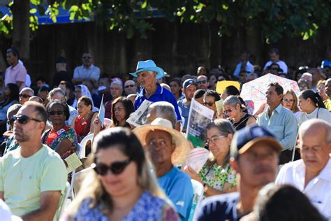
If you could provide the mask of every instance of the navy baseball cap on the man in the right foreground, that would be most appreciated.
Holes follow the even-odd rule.
[[[240,129],[233,136],[230,146],[230,157],[237,157],[249,150],[256,143],[264,142],[272,146],[277,152],[283,148],[274,134],[270,133],[265,127],[252,124]]]

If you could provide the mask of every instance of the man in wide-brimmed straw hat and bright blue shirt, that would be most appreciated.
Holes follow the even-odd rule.
[[[193,200],[191,178],[176,167],[189,155],[188,141],[163,118],[156,118],[133,132],[152,161],[160,187],[175,205],[179,217],[188,220]]]

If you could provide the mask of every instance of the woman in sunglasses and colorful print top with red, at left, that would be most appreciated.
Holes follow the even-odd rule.
[[[48,129],[42,136],[42,142],[55,150],[62,159],[78,150],[78,138],[73,128],[66,126],[69,118],[69,108],[59,100],[50,101],[46,107],[48,120],[52,122],[52,129]]]

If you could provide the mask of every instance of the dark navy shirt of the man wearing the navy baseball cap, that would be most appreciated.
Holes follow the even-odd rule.
[[[239,199],[239,192],[208,197],[200,204],[200,208],[198,208],[194,220],[240,220],[240,218],[247,214],[237,214],[237,203]]]

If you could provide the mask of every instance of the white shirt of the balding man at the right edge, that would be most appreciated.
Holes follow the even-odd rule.
[[[318,211],[331,220],[331,158],[322,171],[304,187],[306,166],[302,159],[285,164],[276,179],[277,184],[293,185],[306,194]]]

